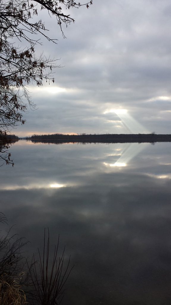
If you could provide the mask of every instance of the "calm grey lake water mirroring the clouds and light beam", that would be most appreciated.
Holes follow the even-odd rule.
[[[63,304],[171,304],[171,143],[33,144],[0,167],[1,211],[14,231],[75,264]]]

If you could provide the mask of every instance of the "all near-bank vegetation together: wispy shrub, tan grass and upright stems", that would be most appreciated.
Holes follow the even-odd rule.
[[[7,224],[2,213],[0,223]],[[70,257],[64,257],[65,247],[59,253],[59,235],[56,246],[52,246],[49,229],[44,229],[43,250],[38,248],[38,253],[32,258],[23,256],[27,243],[18,235],[13,235],[12,228],[5,235],[1,232],[0,304],[59,305],[73,268]]]

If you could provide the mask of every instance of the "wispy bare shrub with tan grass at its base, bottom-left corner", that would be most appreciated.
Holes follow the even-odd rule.
[[[0,213],[0,223],[6,223],[6,217]],[[0,231],[1,233],[1,231]],[[26,296],[21,282],[26,277],[22,270],[23,242],[17,235],[11,236],[11,228],[0,237],[0,305],[25,305]],[[18,275],[18,276],[16,276]]]

